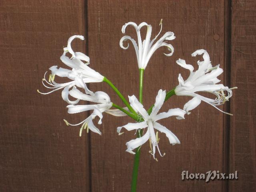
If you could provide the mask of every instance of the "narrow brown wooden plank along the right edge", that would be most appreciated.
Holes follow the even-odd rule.
[[[232,1],[231,86],[238,86],[230,102],[230,180],[229,191],[256,191],[256,2]]]

